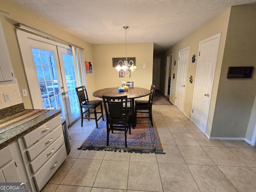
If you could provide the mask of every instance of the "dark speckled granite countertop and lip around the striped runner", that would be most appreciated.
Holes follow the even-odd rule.
[[[4,108],[0,110],[0,119],[4,119],[12,114],[17,114],[19,111],[24,111],[24,105],[18,104],[16,106],[11,106],[8,108]],[[22,123],[10,130],[7,130],[0,134],[0,150],[14,140],[24,136],[25,134],[29,133],[30,131],[38,128],[42,124],[46,123],[50,119],[54,118],[55,116],[59,115],[61,110],[46,110],[44,114],[33,118],[25,123]]]

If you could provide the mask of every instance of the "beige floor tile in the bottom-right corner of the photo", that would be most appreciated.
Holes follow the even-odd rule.
[[[248,167],[219,166],[239,192],[256,191],[256,173]]]

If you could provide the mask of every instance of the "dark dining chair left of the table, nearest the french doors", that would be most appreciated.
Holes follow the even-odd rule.
[[[96,127],[98,128],[98,120],[102,117],[102,120],[104,121],[103,117],[103,110],[102,110],[102,101],[99,100],[88,100],[88,94],[85,86],[80,86],[76,88],[76,93],[78,96],[78,100],[80,103],[80,113],[81,113],[81,119],[82,123],[81,126],[83,126],[83,119],[95,119]],[[96,111],[96,108],[100,106],[100,112]],[[83,110],[84,109],[84,110]],[[90,112],[90,109],[93,110],[93,112]],[[88,112],[88,117],[86,117],[86,112]],[[101,116],[97,118],[97,113],[101,113]],[[90,117],[90,114],[94,114],[94,117]]]

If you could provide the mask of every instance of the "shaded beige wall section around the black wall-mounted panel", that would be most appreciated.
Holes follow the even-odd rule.
[[[256,5],[231,8],[211,137],[246,135],[256,95],[255,21]],[[229,66],[254,66],[254,73],[249,79],[228,79]]]

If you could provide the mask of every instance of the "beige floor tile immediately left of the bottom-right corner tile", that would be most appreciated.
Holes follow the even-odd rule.
[[[217,166],[188,165],[200,192],[237,192]]]

